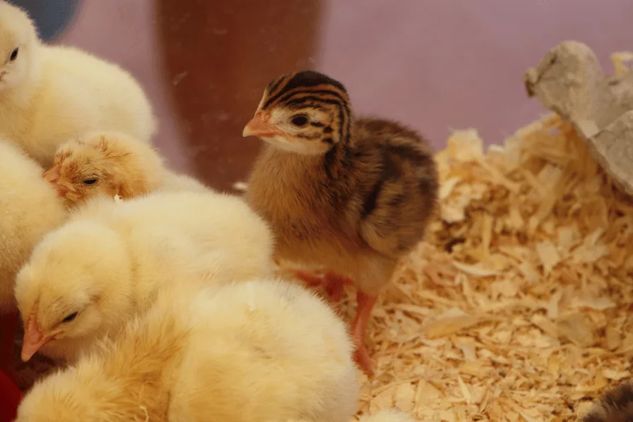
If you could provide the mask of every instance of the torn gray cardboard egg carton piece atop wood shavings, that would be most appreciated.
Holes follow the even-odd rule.
[[[633,196],[633,71],[616,70],[605,76],[589,47],[565,41],[528,69],[524,81],[528,96],[572,123],[617,186]]]

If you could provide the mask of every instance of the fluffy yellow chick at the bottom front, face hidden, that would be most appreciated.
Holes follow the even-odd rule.
[[[37,382],[16,422],[352,419],[353,345],[312,292],[271,278],[190,298],[162,291],[100,353]]]

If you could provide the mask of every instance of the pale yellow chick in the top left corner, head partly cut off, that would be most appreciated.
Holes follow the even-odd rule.
[[[150,142],[150,102],[132,76],[81,50],[49,46],[28,15],[0,0],[0,133],[42,166],[57,146],[97,129]]]

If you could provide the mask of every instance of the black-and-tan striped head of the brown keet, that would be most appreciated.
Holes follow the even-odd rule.
[[[320,155],[349,137],[351,114],[348,93],[338,80],[314,71],[288,73],[268,84],[242,135]]]

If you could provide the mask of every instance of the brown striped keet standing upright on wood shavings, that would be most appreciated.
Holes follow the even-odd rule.
[[[430,146],[399,123],[353,116],[345,87],[314,71],[268,84],[243,134],[267,144],[247,198],[273,227],[276,258],[329,268],[333,294],[355,282],[356,358],[371,374],[365,331],[372,307],[436,207]]]

